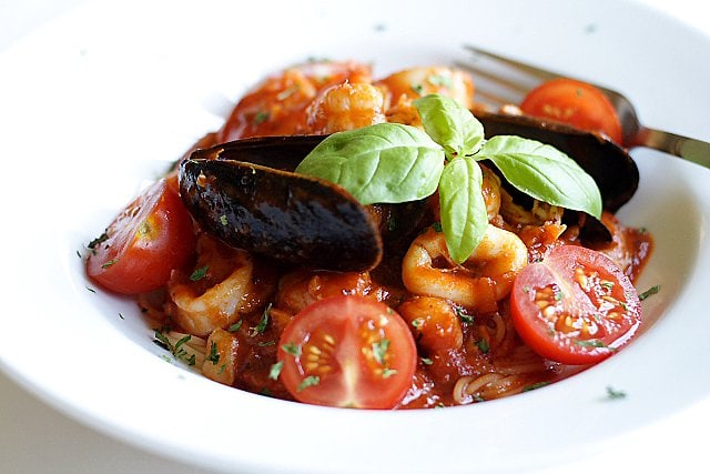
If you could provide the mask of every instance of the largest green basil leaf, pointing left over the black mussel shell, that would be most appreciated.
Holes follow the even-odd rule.
[[[339,184],[361,203],[372,204],[432,195],[443,169],[444,151],[425,132],[378,123],[329,135],[296,172]]]

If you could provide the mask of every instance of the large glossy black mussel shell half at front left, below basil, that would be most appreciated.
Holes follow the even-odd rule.
[[[195,158],[181,163],[179,182],[200,225],[235,248],[335,271],[371,270],[382,260],[376,222],[333,183],[254,163]]]

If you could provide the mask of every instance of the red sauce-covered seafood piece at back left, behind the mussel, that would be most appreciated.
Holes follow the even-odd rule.
[[[267,78],[244,95],[219,132],[219,142],[306,132],[306,108],[331,85],[371,82],[372,68],[357,62],[308,62]]]

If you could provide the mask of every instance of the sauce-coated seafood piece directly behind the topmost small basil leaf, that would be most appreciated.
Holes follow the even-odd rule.
[[[385,94],[388,122],[419,127],[422,121],[412,102],[432,93],[450,97],[467,109],[474,104],[474,81],[459,69],[413,68],[390,74],[375,85]]]

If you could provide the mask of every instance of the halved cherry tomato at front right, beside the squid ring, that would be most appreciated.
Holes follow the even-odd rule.
[[[564,364],[611,355],[641,324],[641,303],[623,272],[604,253],[576,245],[552,250],[518,274],[513,322],[538,354]]]

